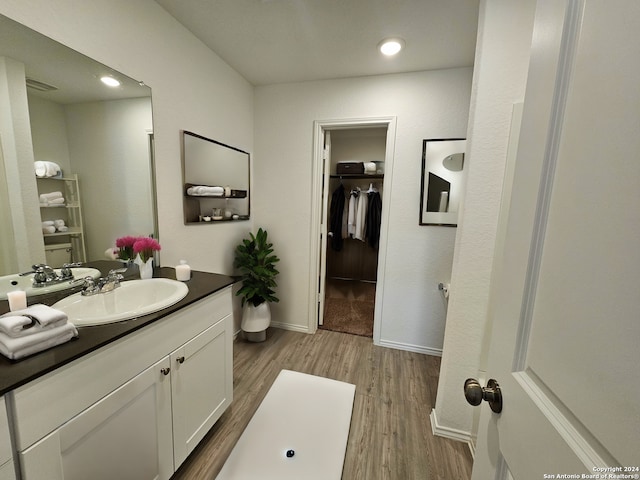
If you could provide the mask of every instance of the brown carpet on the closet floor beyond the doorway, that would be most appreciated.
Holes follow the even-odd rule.
[[[327,279],[324,330],[373,337],[375,283]]]

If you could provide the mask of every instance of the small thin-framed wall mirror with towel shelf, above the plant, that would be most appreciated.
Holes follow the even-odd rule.
[[[249,153],[182,131],[185,224],[249,219]]]

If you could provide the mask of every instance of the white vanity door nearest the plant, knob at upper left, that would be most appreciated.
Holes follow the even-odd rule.
[[[176,469],[231,404],[231,315],[171,354]]]

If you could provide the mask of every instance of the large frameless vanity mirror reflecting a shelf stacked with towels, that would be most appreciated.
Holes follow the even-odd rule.
[[[157,237],[148,86],[1,15],[0,86],[0,274],[104,259],[124,235]],[[36,178],[35,162],[61,174]],[[53,191],[66,197],[57,210],[41,198]],[[54,219],[74,234],[48,233]]]

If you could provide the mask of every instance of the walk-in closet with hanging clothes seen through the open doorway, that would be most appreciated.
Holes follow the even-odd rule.
[[[325,133],[329,162],[320,328],[373,337],[387,128]]]

